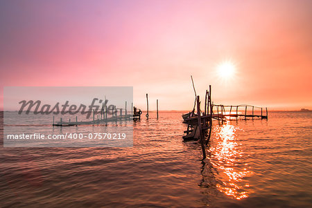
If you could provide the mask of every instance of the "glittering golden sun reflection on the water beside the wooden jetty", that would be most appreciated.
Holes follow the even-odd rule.
[[[250,186],[243,178],[252,174],[248,164],[243,163],[243,151],[239,148],[236,131],[240,129],[232,124],[223,124],[214,129],[214,145],[211,145],[211,162],[218,171],[221,182],[216,185],[227,196],[240,200],[248,198]]]

